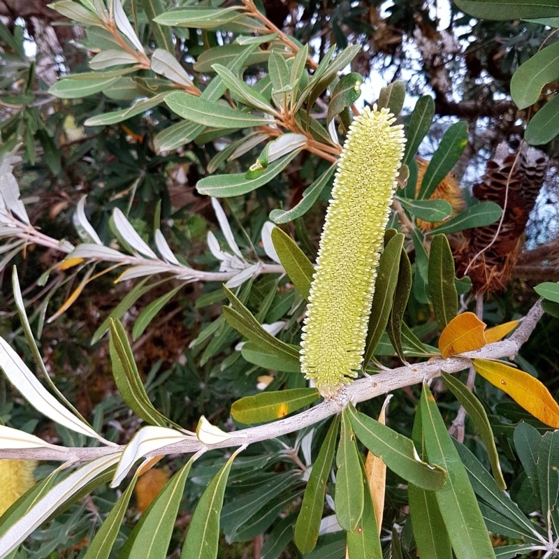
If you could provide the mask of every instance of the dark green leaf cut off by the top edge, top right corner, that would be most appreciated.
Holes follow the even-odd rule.
[[[556,0],[455,0],[463,12],[484,20],[522,20],[557,15]]]

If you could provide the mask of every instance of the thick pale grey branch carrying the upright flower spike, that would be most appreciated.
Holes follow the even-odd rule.
[[[441,370],[454,373],[460,372],[470,367],[472,358],[498,359],[503,357],[514,358],[521,348],[522,344],[528,340],[530,334],[534,330],[537,322],[544,314],[539,301],[530,309],[530,312],[524,317],[521,325],[516,329],[513,335],[507,340],[488,344],[476,351],[470,351],[448,359],[435,358],[433,361],[425,361],[415,365],[406,365],[392,370],[387,370],[363,379],[359,379],[353,384],[347,386],[339,398],[339,401],[321,402],[310,409],[296,414],[286,419],[280,419],[273,423],[258,427],[249,427],[231,433],[231,438],[223,442],[208,447],[198,440],[186,440],[177,444],[169,445],[163,449],[159,449],[147,455],[161,456],[164,454],[175,453],[194,453],[202,449],[218,449],[225,447],[239,447],[242,444],[251,444],[263,440],[270,440],[281,435],[293,433],[299,429],[312,426],[323,419],[326,419],[340,412],[347,402],[364,402],[376,396],[383,395],[401,389],[404,386],[419,384],[425,380],[439,377]],[[0,458],[27,458],[34,460],[73,460],[85,461],[106,456],[115,451],[124,450],[122,447],[87,447],[87,448],[64,448],[53,449],[22,449],[22,450],[0,450]]]

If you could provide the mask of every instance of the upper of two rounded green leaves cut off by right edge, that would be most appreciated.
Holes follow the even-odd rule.
[[[519,109],[533,105],[548,83],[559,78],[559,43],[553,43],[525,61],[511,78],[511,97]]]

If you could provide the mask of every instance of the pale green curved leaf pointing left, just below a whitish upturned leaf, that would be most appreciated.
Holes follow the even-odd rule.
[[[231,175],[216,175],[205,177],[196,184],[196,190],[200,194],[207,194],[214,198],[230,198],[240,196],[255,190],[270,180],[286,168],[289,162],[299,154],[300,150],[295,150],[282,159],[274,161],[259,177],[247,179],[246,173],[233,173]]]

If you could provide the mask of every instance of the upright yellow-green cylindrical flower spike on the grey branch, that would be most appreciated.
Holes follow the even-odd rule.
[[[349,128],[326,213],[303,326],[301,370],[332,400],[363,361],[377,266],[404,153],[388,109]]]

